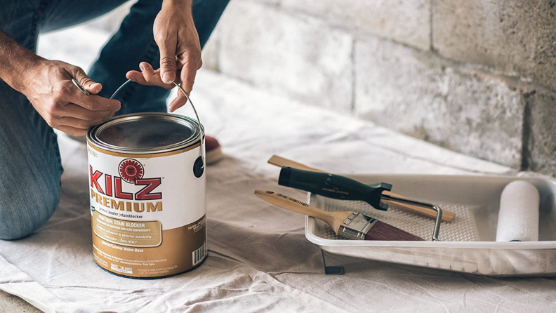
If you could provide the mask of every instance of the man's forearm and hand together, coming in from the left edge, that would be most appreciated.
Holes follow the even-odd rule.
[[[120,108],[119,101],[95,95],[102,86],[83,69],[41,58],[1,31],[0,79],[24,94],[49,126],[69,135],[85,135]],[[81,93],[72,79],[91,95]]]

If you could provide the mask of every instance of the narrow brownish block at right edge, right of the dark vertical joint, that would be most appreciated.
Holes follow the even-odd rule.
[[[556,94],[534,93],[527,97],[527,156],[525,166],[556,176]]]

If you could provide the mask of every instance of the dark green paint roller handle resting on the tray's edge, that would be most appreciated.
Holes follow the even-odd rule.
[[[388,209],[388,204],[380,200],[382,192],[392,189],[392,185],[385,182],[365,185],[340,175],[304,171],[291,167],[282,168],[278,185],[305,190],[332,199],[365,201],[373,208],[383,211]]]

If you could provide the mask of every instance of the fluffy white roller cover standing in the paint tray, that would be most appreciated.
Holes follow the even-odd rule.
[[[496,241],[538,241],[538,201],[534,185],[510,182],[500,199]]]

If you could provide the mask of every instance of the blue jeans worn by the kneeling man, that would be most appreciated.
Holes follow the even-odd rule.
[[[229,0],[194,0],[193,18],[201,48],[209,40]],[[25,48],[37,50],[37,36],[91,20],[126,0],[0,0],[0,29]],[[152,25],[161,0],[139,0],[106,44],[88,75],[110,97],[126,72],[142,61],[159,67]],[[154,86],[127,86],[117,99],[118,114],[166,112],[169,91]],[[60,151],[53,129],[25,95],[0,80],[0,239],[32,234],[51,217],[60,196]]]

